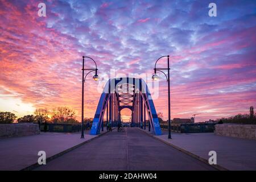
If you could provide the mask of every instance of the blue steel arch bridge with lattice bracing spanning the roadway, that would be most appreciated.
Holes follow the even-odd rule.
[[[142,78],[113,78],[106,82],[94,115],[90,134],[97,135],[106,124],[117,125],[121,122],[121,110],[131,110],[131,127],[141,127],[150,130],[155,135],[161,135],[161,129],[156,114],[154,102],[146,82]],[[146,117],[147,115],[147,117]],[[146,120],[147,118],[147,120]]]

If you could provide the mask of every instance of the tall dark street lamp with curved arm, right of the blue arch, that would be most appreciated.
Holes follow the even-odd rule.
[[[167,68],[156,68],[156,63],[158,63],[158,60],[161,59],[162,57],[167,57],[168,61],[168,67]],[[166,76],[166,80],[168,82],[168,138],[171,139],[171,100],[170,100],[170,64],[169,64],[169,55],[167,56],[162,56],[159,57],[158,60],[155,62],[155,68],[154,68],[154,75],[152,76],[153,81],[158,81],[159,76],[156,74],[156,71],[162,72],[165,76],[166,73],[163,72],[163,70],[168,71],[168,77]]]

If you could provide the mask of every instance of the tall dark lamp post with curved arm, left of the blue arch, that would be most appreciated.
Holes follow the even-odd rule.
[[[91,73],[91,72],[95,72],[95,75],[93,76],[93,80],[98,81],[99,77],[98,77],[98,69],[97,69],[97,64],[96,62],[93,60],[93,62],[95,63],[96,68],[94,69],[85,69],[84,68],[84,59],[88,58],[90,60],[93,60],[91,57],[88,56],[82,56],[82,124],[81,124],[81,138],[84,138],[84,82],[85,82],[85,78],[86,76]],[[85,76],[84,76],[84,71],[89,71]]]

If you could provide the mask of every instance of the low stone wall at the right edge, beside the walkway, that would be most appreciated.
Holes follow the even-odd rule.
[[[256,139],[256,125],[215,125],[214,133],[226,137]]]

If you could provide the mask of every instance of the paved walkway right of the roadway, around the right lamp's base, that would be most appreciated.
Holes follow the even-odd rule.
[[[148,129],[144,130],[148,133]],[[222,137],[214,133],[171,133],[155,136],[205,160],[209,151],[217,152],[217,164],[229,170],[256,170],[256,140]]]

